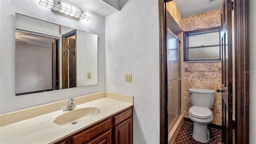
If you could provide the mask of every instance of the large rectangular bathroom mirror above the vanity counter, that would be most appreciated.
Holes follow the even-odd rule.
[[[16,96],[98,84],[98,36],[16,13]]]

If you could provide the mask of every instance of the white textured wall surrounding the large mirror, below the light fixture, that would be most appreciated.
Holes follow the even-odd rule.
[[[38,0],[0,1],[0,113],[105,91],[105,18],[92,22],[56,14]],[[98,84],[15,96],[15,12],[98,35]]]

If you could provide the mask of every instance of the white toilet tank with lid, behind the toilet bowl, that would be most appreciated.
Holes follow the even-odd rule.
[[[215,98],[215,90],[190,88],[188,93],[192,106],[212,108]]]

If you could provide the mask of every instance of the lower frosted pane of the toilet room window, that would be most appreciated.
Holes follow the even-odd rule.
[[[189,60],[193,59],[218,59],[220,58],[220,47],[190,48]]]

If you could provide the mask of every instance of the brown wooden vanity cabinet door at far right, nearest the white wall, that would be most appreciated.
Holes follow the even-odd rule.
[[[132,118],[115,126],[115,144],[132,144]]]

